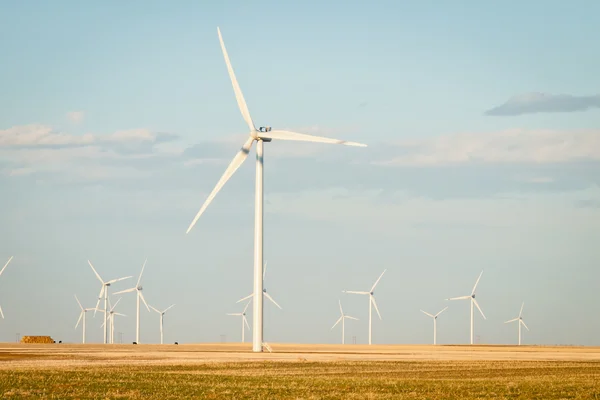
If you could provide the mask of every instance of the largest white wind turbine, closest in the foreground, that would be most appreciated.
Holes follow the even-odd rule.
[[[221,179],[219,179],[219,182],[217,182],[215,188],[208,195],[208,198],[200,208],[200,211],[198,211],[198,214],[196,214],[196,216],[194,217],[194,220],[188,227],[186,233],[189,233],[192,227],[196,224],[196,221],[198,221],[198,218],[200,218],[204,210],[206,210],[206,207],[208,207],[210,202],[217,195],[219,190],[221,190],[223,185],[225,185],[225,183],[229,180],[229,178],[231,178],[231,176],[240,167],[240,165],[242,165],[244,160],[246,160],[248,154],[250,153],[250,148],[252,147],[252,144],[256,141],[256,197],[254,211],[254,302],[252,312],[252,350],[255,352],[261,352],[263,346],[263,298],[262,296],[260,296],[260,293],[263,291],[261,276],[261,270],[263,265],[263,143],[270,142],[272,139],[275,139],[345,144],[348,146],[363,147],[366,145],[355,142],[346,142],[343,140],[306,135],[285,130],[271,130],[270,127],[261,127],[259,129],[256,129],[256,127],[254,126],[254,122],[250,117],[250,111],[248,111],[248,106],[246,105],[246,100],[244,100],[244,95],[242,94],[240,85],[238,84],[238,81],[233,72],[233,68],[231,66],[231,62],[229,61],[229,56],[227,55],[227,50],[225,49],[225,44],[223,43],[223,38],[221,37],[221,31],[219,28],[217,28],[217,33],[219,35],[219,42],[221,43],[223,57],[225,58],[225,63],[227,64],[229,78],[231,79],[231,84],[233,85],[233,91],[235,92],[238,107],[240,108],[244,121],[246,121],[246,124],[248,125],[250,134],[240,151],[233,158],[231,164],[229,164],[229,166],[225,170],[223,176],[221,176]]]

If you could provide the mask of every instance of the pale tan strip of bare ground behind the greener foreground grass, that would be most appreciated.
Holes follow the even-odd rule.
[[[0,343],[0,370],[85,365],[194,364],[240,361],[600,361],[600,347],[270,344],[180,345]]]

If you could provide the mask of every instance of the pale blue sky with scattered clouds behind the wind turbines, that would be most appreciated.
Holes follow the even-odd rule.
[[[485,343],[600,345],[600,4],[131,1],[0,5],[0,341],[78,341],[78,306],[137,275],[165,341],[239,340],[251,290],[247,161],[185,229],[247,134],[220,26],[257,126],[368,143],[265,149],[271,342],[338,342],[337,301],[376,343],[429,343],[445,298],[485,272]],[[251,159],[250,159],[251,160]],[[133,283],[133,282],[132,282]],[[129,283],[115,285],[127,288]],[[134,339],[134,298],[119,309]],[[468,341],[468,304],[440,343]],[[95,325],[97,327],[95,327]],[[88,340],[101,341],[99,318]],[[144,311],[142,341],[158,315]],[[337,329],[337,328],[336,328]],[[250,337],[250,336],[248,336]]]

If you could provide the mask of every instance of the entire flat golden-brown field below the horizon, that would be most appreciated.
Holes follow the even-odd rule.
[[[600,399],[600,348],[0,343],[3,399]]]

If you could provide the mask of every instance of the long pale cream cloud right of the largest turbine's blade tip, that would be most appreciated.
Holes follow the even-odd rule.
[[[600,161],[600,130],[512,129],[460,133],[393,144],[404,154],[376,164],[444,166],[456,164],[566,163]]]

